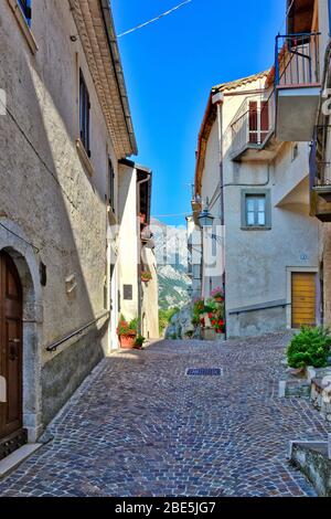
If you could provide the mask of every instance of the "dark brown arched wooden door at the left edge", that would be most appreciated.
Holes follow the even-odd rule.
[[[22,431],[22,288],[11,257],[0,253],[0,442]],[[3,392],[2,392],[3,393]]]

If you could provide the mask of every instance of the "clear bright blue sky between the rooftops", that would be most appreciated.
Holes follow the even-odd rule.
[[[180,0],[111,0],[117,33]],[[193,0],[119,39],[140,163],[153,170],[152,214],[190,211],[197,134],[215,84],[274,62],[285,0]],[[161,218],[170,225],[184,216]]]

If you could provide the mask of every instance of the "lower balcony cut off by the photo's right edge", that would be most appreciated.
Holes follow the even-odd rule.
[[[331,222],[331,162],[325,149],[329,131],[328,125],[316,128],[310,152],[310,213],[321,222]]]

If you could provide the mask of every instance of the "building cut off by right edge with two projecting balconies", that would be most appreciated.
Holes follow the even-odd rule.
[[[331,1],[295,0],[287,6],[286,84],[277,88],[278,131],[291,140],[309,140],[310,214],[320,222],[319,266],[323,322],[331,324]],[[293,36],[296,36],[293,41]],[[296,53],[305,54],[301,73],[291,75]],[[279,54],[280,55],[280,54]],[[301,60],[301,61],[303,61]],[[281,60],[279,60],[281,66]],[[306,74],[305,74],[306,72]],[[280,72],[281,80],[281,72]],[[305,117],[305,118],[303,118]]]

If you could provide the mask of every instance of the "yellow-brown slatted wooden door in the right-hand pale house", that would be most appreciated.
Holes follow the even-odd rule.
[[[292,328],[316,326],[316,274],[292,273]]]

